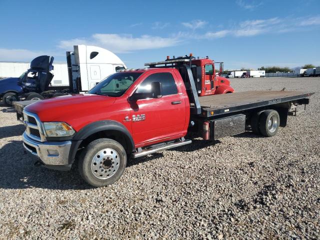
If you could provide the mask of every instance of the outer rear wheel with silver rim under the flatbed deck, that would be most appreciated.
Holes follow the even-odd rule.
[[[265,110],[261,112],[259,129],[264,136],[274,136],[280,125],[280,116],[276,110]]]

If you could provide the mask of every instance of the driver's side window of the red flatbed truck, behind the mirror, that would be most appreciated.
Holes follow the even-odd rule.
[[[154,81],[159,81],[162,83],[162,95],[178,93],[173,76],[169,72],[159,72],[149,75],[141,82],[136,92],[150,92],[151,82]]]

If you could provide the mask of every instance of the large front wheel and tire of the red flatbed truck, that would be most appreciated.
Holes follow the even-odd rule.
[[[119,142],[100,138],[85,147],[78,164],[80,175],[88,184],[106,186],[122,175],[126,166],[126,152]]]

